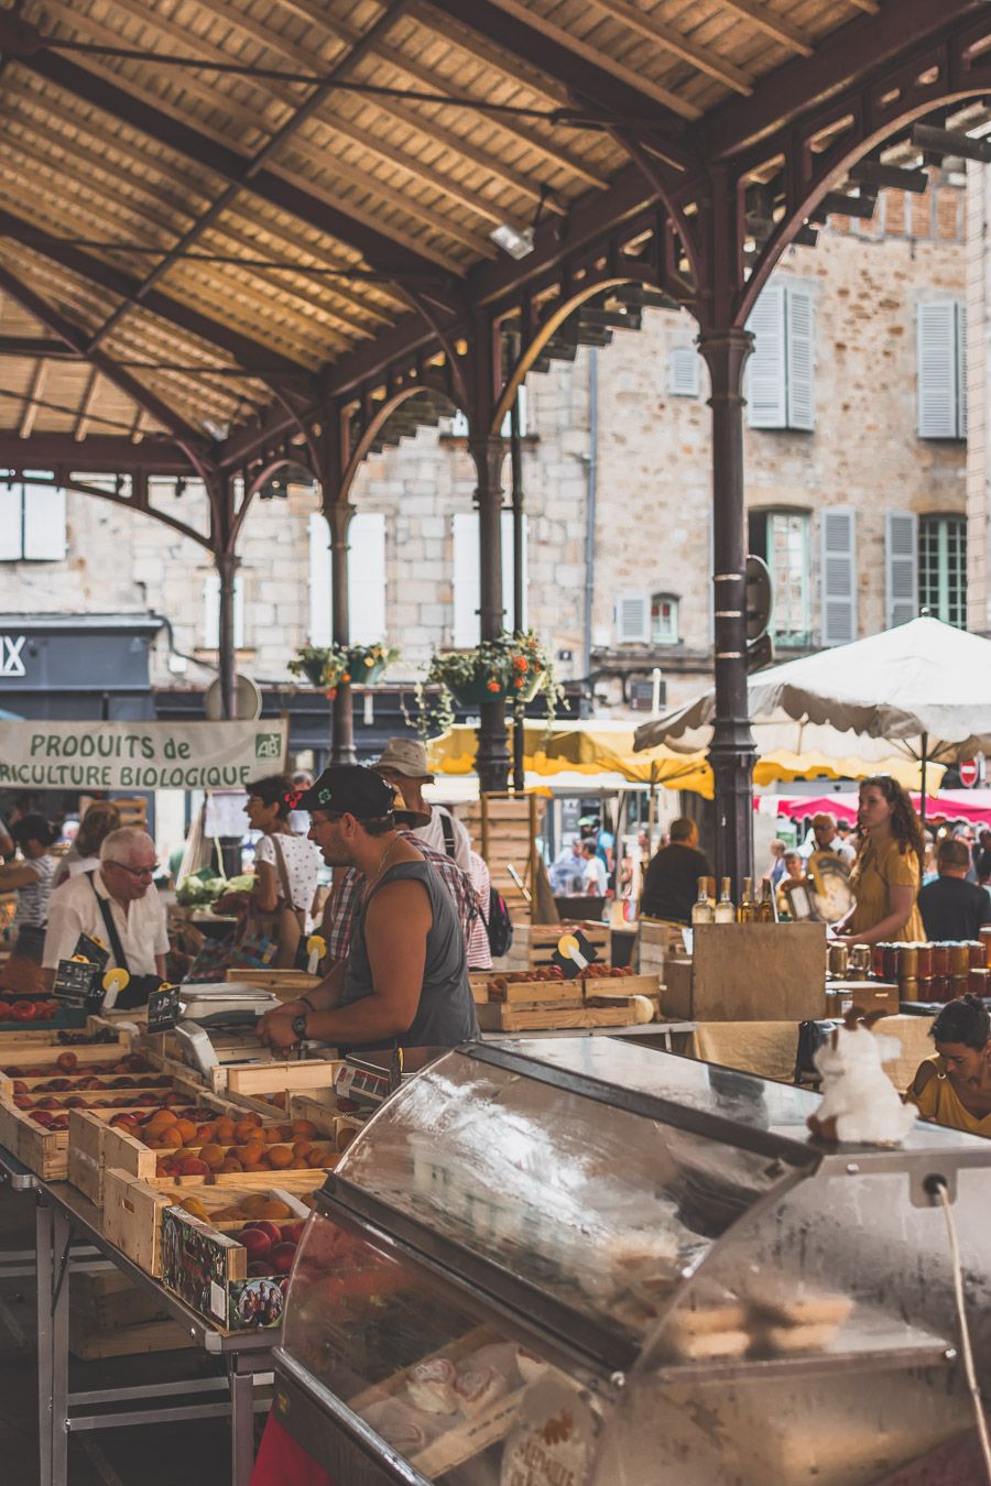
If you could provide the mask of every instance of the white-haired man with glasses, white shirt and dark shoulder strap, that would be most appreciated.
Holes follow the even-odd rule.
[[[56,887],[48,902],[42,964],[48,984],[59,960],[68,960],[80,933],[110,950],[110,966],[129,975],[165,979],[168,933],[165,906],[152,878],[155,843],[137,826],[111,831],[100,847],[100,866]]]

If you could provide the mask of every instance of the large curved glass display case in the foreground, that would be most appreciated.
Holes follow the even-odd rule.
[[[963,1435],[933,1183],[987,1375],[991,1144],[822,1147],[817,1103],[609,1039],[444,1055],[319,1193],[276,1415],[336,1486],[853,1486]]]

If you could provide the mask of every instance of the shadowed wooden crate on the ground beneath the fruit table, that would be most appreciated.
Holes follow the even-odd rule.
[[[186,1328],[171,1320],[160,1299],[117,1271],[74,1276],[68,1349],[82,1361],[178,1351],[192,1345]]]

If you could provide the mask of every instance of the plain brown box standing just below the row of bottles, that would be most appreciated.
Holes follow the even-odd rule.
[[[826,926],[700,924],[691,978],[669,963],[664,982],[664,1009],[679,1019],[814,1021],[826,988]]]

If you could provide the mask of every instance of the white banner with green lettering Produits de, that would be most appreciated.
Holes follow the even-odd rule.
[[[0,788],[244,789],[285,767],[288,721],[3,722]]]

